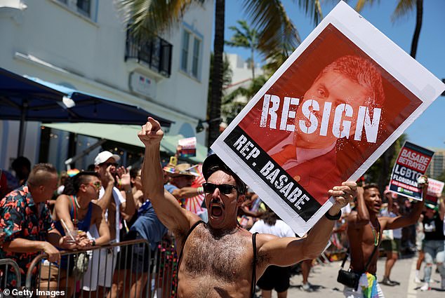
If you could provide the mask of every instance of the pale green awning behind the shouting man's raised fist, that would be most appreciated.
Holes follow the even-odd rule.
[[[98,139],[111,140],[133,146],[144,147],[138,138],[140,126],[127,126],[119,124],[102,123],[47,123],[42,126],[65,130],[69,133],[78,133],[79,135],[88,135]],[[174,155],[178,140],[183,139],[182,135],[164,135],[161,141],[161,151]],[[190,157],[191,161],[202,163],[207,156],[207,147],[197,144],[197,156]]]

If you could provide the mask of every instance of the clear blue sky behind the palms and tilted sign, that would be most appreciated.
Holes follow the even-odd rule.
[[[310,17],[300,11],[294,2],[284,0],[284,7],[293,21],[302,41],[312,32],[313,25]],[[338,1],[322,1],[321,10],[324,15],[335,6]],[[349,1],[354,5],[356,1]],[[374,1],[373,6],[366,6],[361,15],[371,24],[389,37],[406,53],[411,50],[411,40],[416,26],[416,13],[412,11],[408,17],[391,22],[391,15],[397,5],[396,0]],[[423,25],[416,60],[439,79],[445,79],[445,0],[423,1]],[[230,26],[237,25],[237,20],[243,20],[241,4],[237,0],[226,0],[225,39],[230,39]],[[249,50],[225,46],[226,53],[237,53],[245,59],[250,56]],[[406,129],[408,140],[423,147],[445,148],[445,97],[435,100],[430,107]]]

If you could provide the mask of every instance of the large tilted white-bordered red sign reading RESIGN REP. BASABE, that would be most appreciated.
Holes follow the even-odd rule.
[[[444,89],[340,2],[212,149],[303,236]]]

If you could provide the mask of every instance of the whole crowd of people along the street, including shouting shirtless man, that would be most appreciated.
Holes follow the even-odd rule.
[[[20,266],[22,284],[13,269],[0,266],[0,288],[25,284],[34,257],[46,252],[47,261],[34,267],[32,285],[67,287],[67,297],[96,292],[98,297],[140,297],[152,287],[150,272],[161,241],[175,241],[173,291],[159,289],[158,297],[287,297],[291,266],[300,263],[302,290],[314,291],[308,276],[314,259],[331,250],[350,258],[345,297],[383,297],[380,283],[397,286],[391,270],[404,250],[418,250],[416,281],[430,290],[434,262],[445,290],[445,204],[410,201],[376,184],[343,182],[328,191],[335,203],[307,235],[292,229],[239,177],[215,156],[200,168],[177,163],[161,166],[159,142],[163,132],[152,118],[138,134],[145,144],[140,167],[119,165],[119,155],[102,151],[90,170],[68,177],[53,165],[31,167],[27,158],[13,163],[15,177],[0,173],[0,259]],[[204,183],[197,183],[202,177]],[[423,192],[427,183],[422,186]],[[202,198],[199,207],[187,200]],[[189,204],[190,205],[190,204]],[[73,274],[73,258],[60,251],[86,252],[93,247],[144,239],[150,246],[119,246],[84,254],[88,268]],[[328,244],[329,243],[329,244]],[[386,257],[383,280],[376,278],[380,252]],[[77,259],[77,261],[79,261]],[[423,279],[420,267],[424,265]],[[395,265],[397,266],[397,265]],[[133,271],[134,278],[126,280]],[[39,274],[37,274],[39,272]],[[174,277],[173,277],[174,276]],[[81,289],[75,280],[82,280]],[[126,287],[125,285],[126,282]],[[148,286],[147,286],[148,285]],[[127,297],[127,296],[126,296]]]

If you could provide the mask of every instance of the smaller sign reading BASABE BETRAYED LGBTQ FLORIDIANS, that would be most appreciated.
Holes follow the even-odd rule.
[[[405,142],[392,168],[390,191],[421,201],[417,180],[425,174],[433,155],[434,151]]]

